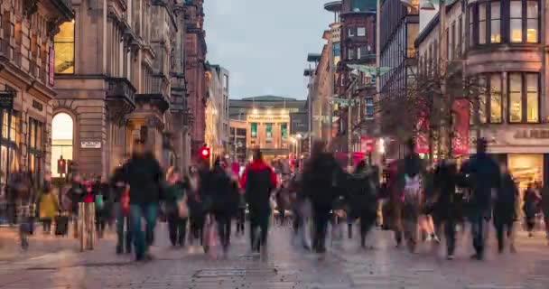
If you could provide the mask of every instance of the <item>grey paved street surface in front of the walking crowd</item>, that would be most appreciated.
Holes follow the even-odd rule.
[[[294,247],[290,228],[273,228],[265,257],[249,254],[247,238],[234,237],[228,256],[214,248],[172,248],[166,225],[158,226],[154,260],[135,263],[116,256],[115,236],[108,233],[92,251],[80,253],[73,238],[36,235],[28,252],[4,258],[0,248],[0,289],[5,288],[185,288],[185,289],[339,289],[444,288],[547,289],[549,247],[540,232],[517,237],[518,253],[494,252],[490,241],[485,261],[472,261],[470,238],[461,235],[456,259],[444,258],[443,246],[422,244],[417,254],[395,248],[389,232],[368,238],[329,242],[325,256]],[[0,230],[0,239],[5,236]],[[14,250],[14,247],[12,251]]]

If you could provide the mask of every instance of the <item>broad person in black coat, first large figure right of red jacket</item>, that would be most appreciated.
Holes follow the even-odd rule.
[[[326,252],[326,229],[330,221],[330,210],[341,193],[346,178],[339,163],[332,154],[324,152],[325,144],[316,141],[312,146],[311,159],[304,167],[302,190],[305,198],[312,202],[314,234],[312,248],[317,253]]]

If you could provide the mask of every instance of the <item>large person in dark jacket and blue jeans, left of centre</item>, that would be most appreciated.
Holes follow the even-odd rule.
[[[154,227],[158,215],[158,202],[162,170],[160,163],[150,152],[144,153],[144,146],[136,142],[135,152],[124,166],[124,182],[129,186],[130,231],[135,245],[137,261],[151,259],[149,247],[154,242]],[[145,219],[145,231],[141,219]]]

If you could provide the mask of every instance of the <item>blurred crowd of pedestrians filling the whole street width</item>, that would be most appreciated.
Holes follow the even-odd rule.
[[[410,140],[405,157],[387,166],[383,182],[378,168],[364,160],[352,172],[343,170],[321,141],[313,143],[310,157],[296,162],[293,170],[283,162],[271,166],[257,150],[244,172],[225,158],[215,159],[211,167],[209,160],[199,159],[188,171],[164,170],[143,144],[134,147],[131,157],[108,179],[74,175],[61,201],[53,192],[51,176],[45,176],[35,190],[26,174],[14,173],[10,190],[24,196],[19,202],[26,201],[27,208],[37,204],[37,212],[28,209],[22,215],[29,217],[25,223],[32,223],[30,217],[36,215],[49,233],[61,217],[78,219],[79,203],[94,203],[98,237],[107,225],[116,224],[116,254],[134,253],[138,261],[153,257],[149,248],[159,220],[167,222],[173,247],[196,244],[208,252],[218,238],[225,255],[233,221],[237,236],[245,235],[249,223],[250,250],[262,254],[272,222],[286,226],[288,219],[294,241],[319,254],[327,251],[329,236],[342,238],[343,223],[348,225],[349,238],[359,224],[361,247],[368,248],[368,232],[379,225],[394,231],[396,247],[405,245],[411,252],[422,239],[436,244],[444,240],[448,259],[454,258],[457,231],[467,226],[475,250],[472,258],[484,258],[485,234],[492,225],[498,251],[503,252],[508,242],[515,252],[520,216],[530,236],[536,223],[544,223],[549,241],[549,189],[532,183],[521,194],[507,168],[487,154],[482,139],[468,160],[441,160],[434,165],[420,158]],[[78,222],[73,223],[77,234]],[[33,224],[27,229],[33,231]]]

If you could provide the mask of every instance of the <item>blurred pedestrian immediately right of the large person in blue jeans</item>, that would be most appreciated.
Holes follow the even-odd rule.
[[[166,173],[164,186],[163,193],[170,242],[172,247],[184,247],[188,220],[188,216],[185,215],[188,212],[181,210],[187,209],[187,197],[185,197],[185,184],[181,182],[181,173],[177,168],[172,168]],[[181,209],[181,202],[183,202],[181,205],[185,206],[183,209]]]

